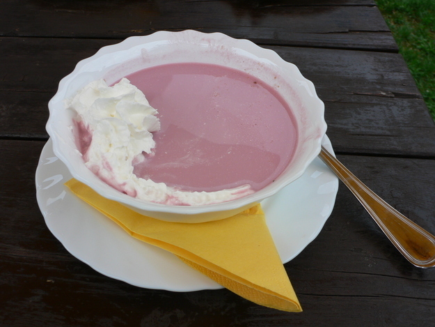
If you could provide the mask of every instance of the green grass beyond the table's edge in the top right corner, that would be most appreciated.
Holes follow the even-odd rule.
[[[435,120],[435,0],[376,0]]]

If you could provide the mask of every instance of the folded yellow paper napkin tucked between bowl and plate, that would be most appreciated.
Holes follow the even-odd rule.
[[[172,252],[235,294],[266,307],[302,311],[260,205],[214,222],[164,222],[105,199],[74,178],[65,185],[133,237]]]

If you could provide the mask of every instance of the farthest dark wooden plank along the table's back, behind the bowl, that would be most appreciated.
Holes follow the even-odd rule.
[[[2,2],[2,13],[0,36],[119,39],[161,29],[198,29],[265,44],[397,52],[374,1],[365,0],[303,6],[299,1],[8,0]]]

